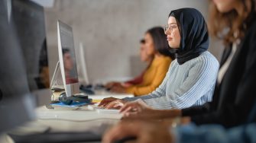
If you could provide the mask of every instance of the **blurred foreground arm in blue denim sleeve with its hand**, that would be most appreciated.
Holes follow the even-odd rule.
[[[113,142],[126,137],[134,137],[137,142],[208,142],[240,143],[255,142],[256,124],[225,129],[219,125],[177,127],[173,133],[167,126],[152,122],[121,122],[109,129],[103,136],[103,142]]]

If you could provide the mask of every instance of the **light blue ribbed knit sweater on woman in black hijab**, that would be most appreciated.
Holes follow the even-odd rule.
[[[179,65],[175,59],[164,81],[151,94],[126,97],[122,100],[141,99],[155,109],[183,109],[202,105],[212,100],[219,62],[210,52]]]

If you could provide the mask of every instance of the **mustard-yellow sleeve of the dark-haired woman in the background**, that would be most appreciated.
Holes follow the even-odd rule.
[[[170,62],[168,62],[168,61],[161,62],[157,66],[155,75],[152,75],[154,78],[153,78],[153,81],[151,81],[151,84],[148,84],[146,86],[134,85],[132,87],[128,87],[126,89],[126,92],[130,93],[130,94],[134,94],[135,96],[140,96],[140,95],[151,93],[164,80],[164,77],[167,74],[167,70],[169,67],[170,67]]]

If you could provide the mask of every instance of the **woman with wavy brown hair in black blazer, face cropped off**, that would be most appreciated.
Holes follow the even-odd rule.
[[[210,30],[213,36],[222,36],[219,38],[227,46],[212,101],[182,110],[151,110],[143,104],[133,103],[126,106],[142,110],[138,115],[130,113],[129,117],[162,119],[186,116],[187,121],[197,125],[215,123],[228,128],[247,121],[256,100],[255,1],[212,1],[211,4]],[[227,29],[229,31],[223,33]]]

